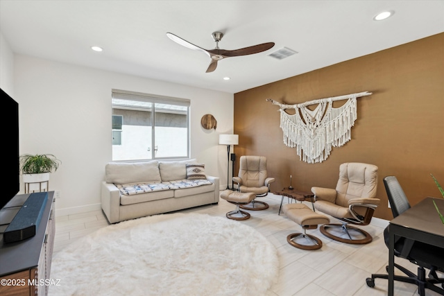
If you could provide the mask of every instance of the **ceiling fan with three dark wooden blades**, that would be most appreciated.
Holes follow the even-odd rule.
[[[207,68],[207,73],[216,70],[217,61],[222,60],[224,58],[237,57],[239,55],[252,55],[253,53],[262,53],[262,51],[268,51],[273,46],[275,46],[274,42],[267,42],[263,44],[257,44],[249,47],[245,47],[244,49],[235,49],[233,51],[228,51],[225,49],[219,49],[219,41],[221,41],[223,37],[223,33],[214,32],[212,33],[213,39],[216,42],[215,49],[203,49],[202,47],[196,46],[192,43],[187,42],[187,40],[183,40],[182,38],[174,35],[173,33],[167,33],[169,39],[177,42],[178,44],[188,47],[189,49],[194,49],[195,51],[202,51],[206,55],[211,58],[210,66]]]

